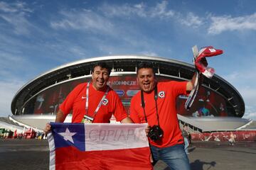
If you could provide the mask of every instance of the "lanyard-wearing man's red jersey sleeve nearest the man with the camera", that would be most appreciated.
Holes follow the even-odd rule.
[[[116,120],[120,122],[124,118],[127,118],[128,115],[119,96],[114,91],[112,91],[112,93],[114,98],[114,118],[116,118]]]

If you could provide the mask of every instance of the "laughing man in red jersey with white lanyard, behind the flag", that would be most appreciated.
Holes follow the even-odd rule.
[[[110,123],[112,115],[121,123],[132,123],[117,93],[107,85],[110,67],[104,62],[92,67],[92,81],[79,84],[61,103],[55,123],[63,123],[73,111],[72,123]],[[47,123],[44,132],[50,131]]]

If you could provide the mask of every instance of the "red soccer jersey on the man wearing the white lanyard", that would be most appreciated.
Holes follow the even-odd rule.
[[[79,84],[68,94],[65,101],[60,105],[60,110],[63,111],[64,115],[68,115],[70,111],[73,111],[72,123],[81,123],[83,116],[85,115],[85,102],[86,102],[86,86],[87,83]],[[94,118],[93,123],[110,123],[112,114],[117,121],[121,121],[127,118],[127,113],[124,110],[124,106],[119,99],[119,96],[111,88],[102,102],[100,109],[94,114],[95,109],[100,103],[102,96],[105,91],[97,91],[89,86],[89,104],[88,104],[88,115]]]

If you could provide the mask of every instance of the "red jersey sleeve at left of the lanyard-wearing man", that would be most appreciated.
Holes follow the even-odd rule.
[[[65,101],[63,101],[63,103],[60,104],[59,109],[63,111],[64,115],[68,115],[70,111],[73,109],[75,97],[78,96],[79,92],[82,90],[82,86],[86,85],[79,84],[78,86],[75,86],[75,89],[73,89],[73,91],[70,91],[68,96],[65,98]]]

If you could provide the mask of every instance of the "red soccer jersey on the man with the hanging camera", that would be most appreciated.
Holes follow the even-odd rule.
[[[157,83],[157,108],[160,127],[164,131],[164,135],[161,137],[161,140],[156,142],[149,139],[151,145],[156,147],[170,147],[183,143],[183,137],[178,125],[176,113],[176,97],[180,94],[186,94],[186,84],[187,81],[167,81]],[[139,91],[132,98],[130,107],[130,118],[134,123],[146,123],[141,103],[141,91]],[[144,92],[144,103],[146,119],[149,125],[157,125],[154,90],[150,93]]]

